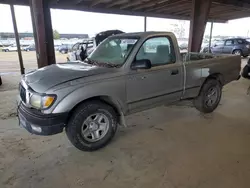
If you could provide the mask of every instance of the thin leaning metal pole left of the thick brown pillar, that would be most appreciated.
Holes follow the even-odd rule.
[[[20,64],[20,71],[21,71],[21,74],[25,74],[25,69],[23,66],[23,57],[22,57],[20,41],[19,41],[19,34],[18,34],[17,24],[16,24],[15,10],[14,10],[13,5],[10,5],[10,11],[11,11],[11,16],[12,16],[13,28],[14,28],[14,32],[15,32],[16,46],[17,46],[17,52],[18,52],[18,58],[19,58],[19,64]]]

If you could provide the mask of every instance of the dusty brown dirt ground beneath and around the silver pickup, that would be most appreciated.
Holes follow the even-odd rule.
[[[247,80],[227,85],[210,115],[183,103],[138,113],[110,145],[87,153],[65,133],[40,137],[18,127],[18,77],[3,76],[8,83],[0,90],[0,114],[9,110],[0,118],[1,188],[250,187]]]

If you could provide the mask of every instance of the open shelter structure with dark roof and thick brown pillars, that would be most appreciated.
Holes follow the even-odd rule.
[[[247,0],[0,0],[0,3],[30,6],[38,67],[55,63],[50,8],[190,20],[192,52],[200,50],[208,21],[227,22],[250,16]]]

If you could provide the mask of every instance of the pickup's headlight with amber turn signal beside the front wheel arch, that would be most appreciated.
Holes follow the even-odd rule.
[[[30,98],[30,105],[36,109],[46,109],[53,104],[55,99],[55,95],[41,96],[38,94],[33,94]]]

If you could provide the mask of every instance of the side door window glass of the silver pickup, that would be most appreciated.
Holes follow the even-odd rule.
[[[141,46],[136,55],[136,60],[148,59],[152,66],[175,63],[174,46],[168,37],[155,37],[148,39]]]

